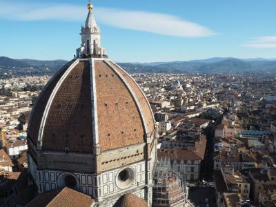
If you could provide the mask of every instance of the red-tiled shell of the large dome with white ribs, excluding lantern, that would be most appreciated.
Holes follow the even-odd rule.
[[[43,88],[28,137],[41,150],[91,153],[144,143],[154,131],[137,83],[109,59],[75,59]]]

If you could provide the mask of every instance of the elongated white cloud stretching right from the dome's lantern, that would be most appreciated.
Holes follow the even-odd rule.
[[[97,18],[102,23],[118,28],[141,30],[177,37],[204,37],[215,34],[197,23],[184,21],[179,17],[141,11],[123,11],[99,8]]]

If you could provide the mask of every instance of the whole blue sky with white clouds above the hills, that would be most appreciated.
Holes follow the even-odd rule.
[[[0,0],[0,56],[72,59],[87,1]],[[94,0],[115,61],[276,58],[275,0]]]

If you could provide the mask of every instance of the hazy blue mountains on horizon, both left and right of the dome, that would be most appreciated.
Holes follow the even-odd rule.
[[[39,61],[34,59],[11,59],[0,57],[0,75],[12,74],[52,74],[65,65],[66,60]],[[214,57],[193,61],[172,61],[155,63],[119,63],[127,72],[276,72],[276,59],[235,59],[232,57]]]

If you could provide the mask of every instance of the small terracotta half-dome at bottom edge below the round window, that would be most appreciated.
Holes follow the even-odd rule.
[[[113,207],[147,207],[148,204],[144,199],[131,193],[122,195]]]

